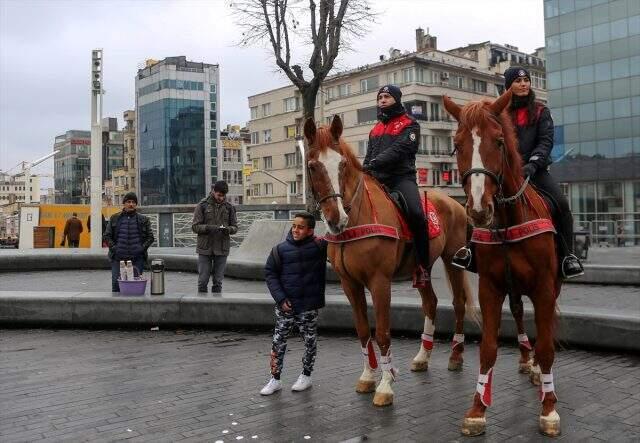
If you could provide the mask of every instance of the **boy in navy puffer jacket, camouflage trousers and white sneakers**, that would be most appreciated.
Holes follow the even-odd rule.
[[[276,327],[271,348],[271,379],[260,391],[271,395],[282,389],[280,374],[287,337],[297,326],[304,338],[302,374],[291,387],[311,387],[316,360],[318,309],[324,306],[327,242],[313,235],[316,221],[308,212],[296,214],[287,240],[277,245],[265,266],[267,287],[276,302]]]

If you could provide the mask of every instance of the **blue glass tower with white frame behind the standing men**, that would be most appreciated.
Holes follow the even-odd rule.
[[[218,179],[218,66],[168,57],[136,77],[142,205],[193,204]]]

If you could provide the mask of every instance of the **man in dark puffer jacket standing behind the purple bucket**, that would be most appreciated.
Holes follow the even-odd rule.
[[[151,222],[136,211],[138,197],[129,192],[123,198],[122,212],[113,214],[104,233],[111,259],[111,290],[120,292],[120,261],[131,260],[137,274],[142,274],[147,250],[154,241]]]

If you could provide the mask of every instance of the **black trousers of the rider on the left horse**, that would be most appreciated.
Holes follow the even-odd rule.
[[[429,235],[427,222],[422,209],[420,191],[415,177],[399,177],[385,183],[387,187],[402,194],[407,202],[407,223],[413,233],[413,243],[418,264],[429,269]]]

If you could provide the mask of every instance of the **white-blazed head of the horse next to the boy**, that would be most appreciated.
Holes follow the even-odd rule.
[[[316,127],[311,118],[304,124],[304,136],[309,147],[306,162],[311,190],[327,229],[332,234],[342,233],[349,221],[343,206],[344,191],[341,186],[346,164],[341,135],[342,121],[337,115],[333,117],[330,127]]]

